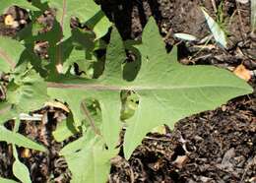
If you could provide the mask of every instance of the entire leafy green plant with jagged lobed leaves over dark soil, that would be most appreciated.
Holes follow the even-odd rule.
[[[3,2],[6,1],[0,1],[1,6]],[[153,18],[143,31],[141,43],[130,46],[137,53],[137,60],[125,62],[125,47],[114,26],[104,59],[96,55],[96,50],[105,48],[100,37],[110,24],[94,1],[8,2],[6,7],[18,5],[28,9],[32,20],[48,7],[55,8],[57,16],[46,34],[36,31],[32,21],[18,33],[17,39],[0,37],[0,71],[10,75],[6,98],[0,103],[0,141],[46,152],[42,145],[17,132],[20,113],[39,109],[53,100],[67,103],[70,113],[53,135],[56,141],[63,141],[82,133],[59,152],[72,172],[71,182],[105,182],[110,159],[120,147],[128,159],[153,128],[162,124],[171,128],[179,119],[214,109],[230,98],[252,91],[223,69],[179,64],[175,46],[166,53]],[[73,16],[95,33],[70,30],[69,20]],[[48,60],[32,52],[33,43],[38,40],[49,43]],[[83,75],[74,74],[74,63],[84,71]],[[61,72],[56,65],[62,67]],[[132,103],[134,100],[139,101]],[[130,114],[124,112],[129,106],[135,109]],[[15,119],[14,132],[3,126],[8,119]],[[118,146],[124,126],[124,143]],[[14,154],[14,175],[30,182],[28,168],[15,150]]]

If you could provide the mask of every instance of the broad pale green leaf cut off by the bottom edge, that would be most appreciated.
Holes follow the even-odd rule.
[[[117,153],[116,150],[105,150],[102,141],[92,140],[80,152],[65,155],[72,172],[71,183],[106,182],[110,159]]]

